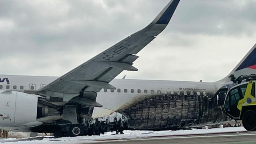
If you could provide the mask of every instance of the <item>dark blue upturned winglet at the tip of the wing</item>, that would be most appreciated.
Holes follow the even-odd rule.
[[[168,24],[180,0],[171,0],[152,21],[153,24]]]

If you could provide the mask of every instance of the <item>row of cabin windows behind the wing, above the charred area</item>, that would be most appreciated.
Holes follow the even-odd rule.
[[[107,92],[107,91],[108,91],[108,89],[105,88],[105,89],[104,89],[104,92]],[[110,92],[114,92],[114,90],[110,90]],[[121,92],[121,89],[118,88],[118,89],[117,89],[117,92]],[[127,89],[124,89],[124,92],[126,93],[126,92],[128,92],[128,90],[127,90]],[[131,93],[134,93],[134,89],[131,89],[130,92],[131,92]],[[138,89],[138,90],[137,90],[137,93],[141,93],[141,90]],[[148,93],[148,90],[144,90],[144,93],[147,94],[147,93]],[[150,90],[150,93],[151,93],[151,94],[154,94],[155,92],[154,92],[154,90]],[[157,94],[161,94],[161,90],[157,90]],[[167,90],[164,90],[164,94],[167,94]],[[174,91],[170,91],[170,94],[174,94]],[[180,94],[181,94],[180,91],[177,91],[177,94],[180,95]],[[184,95],[184,96],[188,95],[188,92],[187,92],[187,91],[184,91],[184,92],[183,92],[183,95]],[[190,92],[189,92],[189,95],[190,95],[190,96],[194,96],[194,92],[193,92],[193,91],[190,91]],[[197,95],[197,96],[200,96],[201,94],[200,94],[200,92],[196,92],[196,95]],[[203,96],[207,96],[206,92],[203,92]]]

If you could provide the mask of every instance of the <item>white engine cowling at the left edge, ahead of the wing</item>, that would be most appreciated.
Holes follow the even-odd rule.
[[[0,91],[0,127],[37,125],[38,97],[12,90]]]

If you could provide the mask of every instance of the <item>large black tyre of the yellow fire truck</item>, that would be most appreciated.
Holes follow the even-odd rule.
[[[243,126],[246,130],[255,130],[256,128],[256,112],[254,110],[247,110],[242,118]]]

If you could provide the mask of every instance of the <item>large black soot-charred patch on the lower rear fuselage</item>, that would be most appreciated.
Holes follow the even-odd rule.
[[[128,118],[129,130],[180,130],[230,121],[218,107],[213,92],[208,92],[207,96],[136,96],[116,112]]]

